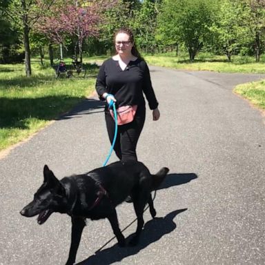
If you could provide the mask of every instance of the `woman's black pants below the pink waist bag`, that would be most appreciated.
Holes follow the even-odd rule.
[[[106,126],[110,143],[115,135],[115,121],[108,110],[105,111]],[[137,109],[135,118],[129,124],[119,125],[114,150],[121,161],[137,161],[136,146],[146,119],[146,109]]]

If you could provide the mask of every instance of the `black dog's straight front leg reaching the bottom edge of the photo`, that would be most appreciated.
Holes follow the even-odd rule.
[[[79,246],[81,235],[85,226],[86,222],[84,218],[72,217],[71,246],[66,265],[72,265],[75,263],[75,257],[77,256],[77,248]]]

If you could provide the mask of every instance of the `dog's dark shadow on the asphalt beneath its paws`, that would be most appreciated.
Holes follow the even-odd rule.
[[[88,259],[78,263],[78,265],[109,265],[115,262],[120,262],[125,257],[139,253],[141,249],[146,248],[149,244],[158,241],[164,235],[172,232],[177,227],[175,222],[173,222],[173,219],[176,215],[185,210],[187,209],[174,210],[173,212],[168,213],[165,217],[158,217],[147,222],[144,225],[144,230],[141,233],[141,239],[137,246],[120,248],[115,244],[110,248],[106,248],[103,251],[99,251],[95,255],[88,257]],[[126,239],[126,242],[128,242],[131,237],[132,235]]]

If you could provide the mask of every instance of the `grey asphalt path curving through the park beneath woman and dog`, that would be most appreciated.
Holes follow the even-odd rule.
[[[106,244],[108,221],[88,220],[77,264],[265,264],[264,117],[232,92],[264,76],[150,69],[161,119],[148,110],[137,150],[151,173],[170,168],[157,218],[146,211],[135,248]],[[103,164],[109,147],[103,106],[91,98],[0,159],[0,264],[66,262],[70,217],[55,213],[39,226],[19,211],[41,185],[44,164],[59,179],[84,173]],[[121,228],[135,219],[132,204],[117,212]]]

